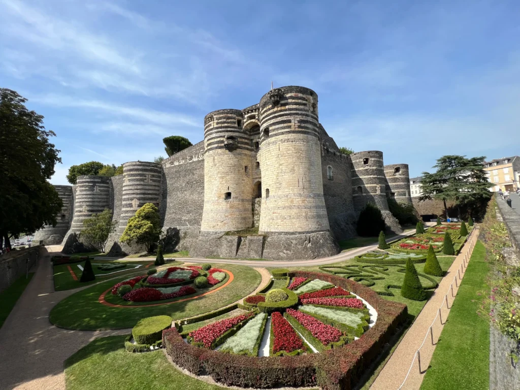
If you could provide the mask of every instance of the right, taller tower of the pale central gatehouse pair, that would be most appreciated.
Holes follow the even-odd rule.
[[[260,232],[329,230],[318,127],[318,95],[309,88],[271,89],[260,100]]]

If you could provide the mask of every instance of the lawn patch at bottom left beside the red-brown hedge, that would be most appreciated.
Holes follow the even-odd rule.
[[[162,350],[126,352],[126,336],[102,337],[65,361],[67,390],[222,390],[175,369]],[[95,373],[95,374],[94,374]]]

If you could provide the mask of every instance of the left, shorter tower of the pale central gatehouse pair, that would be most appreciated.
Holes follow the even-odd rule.
[[[241,110],[217,110],[204,118],[204,211],[201,231],[253,226],[251,138]]]

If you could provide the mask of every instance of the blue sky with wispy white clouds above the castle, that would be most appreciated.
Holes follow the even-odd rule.
[[[431,170],[520,154],[518,1],[0,0],[0,86],[29,99],[73,164],[164,155],[203,117],[275,86],[319,97],[339,146]]]

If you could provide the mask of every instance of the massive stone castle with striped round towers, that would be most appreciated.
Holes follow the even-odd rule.
[[[299,86],[271,89],[243,110],[210,112],[204,140],[162,165],[128,162],[122,175],[80,176],[56,189],[64,204],[58,224],[34,239],[73,252],[83,220],[108,207],[118,221],[111,254],[142,250],[118,239],[145,203],[159,207],[166,251],[268,259],[337,254],[369,202],[389,230],[402,232],[387,198],[412,203],[408,165],[385,166],[380,151],[342,154],[318,121],[318,95]]]

